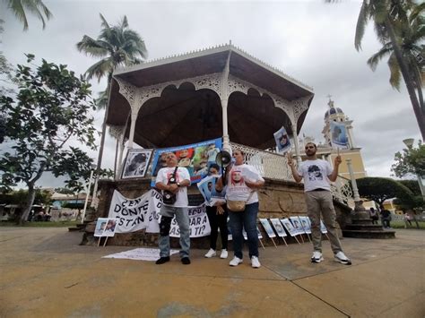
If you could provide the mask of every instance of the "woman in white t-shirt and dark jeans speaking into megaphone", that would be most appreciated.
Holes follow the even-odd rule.
[[[242,262],[242,245],[244,242],[242,229],[245,228],[251,266],[259,268],[261,264],[258,260],[258,235],[256,233],[256,215],[258,214],[258,194],[256,189],[265,185],[265,179],[258,173],[256,168],[244,163],[244,157],[245,154],[242,150],[233,151],[235,163],[226,169],[224,184],[223,176],[221,176],[215,188],[217,191],[221,191],[223,185],[227,185],[226,200],[228,203],[229,201],[245,202],[245,207],[242,211],[231,211],[229,209],[230,229],[235,254],[230,261],[230,266],[238,266]]]

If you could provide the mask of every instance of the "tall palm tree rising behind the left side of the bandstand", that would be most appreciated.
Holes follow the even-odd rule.
[[[77,49],[88,56],[100,57],[100,61],[92,64],[86,71],[88,80],[93,77],[100,79],[104,76],[108,77],[108,86],[105,90],[105,95],[100,94],[100,99],[109,95],[112,73],[117,66],[132,65],[142,63],[142,59],[147,56],[146,47],[143,39],[139,34],[129,29],[126,15],[115,26],[109,26],[108,21],[100,14],[101,27],[98,39],[84,35],[82,40],[77,43]],[[98,99],[99,100],[99,99]],[[104,100],[104,98],[103,98]],[[101,105],[106,103],[100,102]],[[103,147],[105,143],[106,120],[108,117],[108,105],[105,107],[105,117],[103,119],[102,134],[100,139],[100,150],[97,165],[97,172],[100,171],[100,166],[103,156]]]

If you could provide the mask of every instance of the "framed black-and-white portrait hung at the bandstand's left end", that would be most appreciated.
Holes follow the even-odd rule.
[[[152,150],[130,149],[126,155],[126,162],[121,178],[143,177],[151,160]]]

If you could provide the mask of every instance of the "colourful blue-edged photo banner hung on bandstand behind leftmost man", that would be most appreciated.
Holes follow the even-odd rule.
[[[165,160],[168,152],[174,152],[178,158],[178,166],[187,168],[190,175],[190,181],[197,183],[208,175],[208,168],[215,163],[217,154],[221,151],[221,138],[206,142],[197,142],[186,146],[172,148],[162,148],[155,151],[152,160],[152,183],[155,185],[155,179],[160,168],[167,167]]]

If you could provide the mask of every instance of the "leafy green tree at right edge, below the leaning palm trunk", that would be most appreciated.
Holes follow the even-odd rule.
[[[395,153],[395,164],[391,167],[395,176],[409,174],[425,178],[425,145],[419,142],[418,148],[403,149]]]

